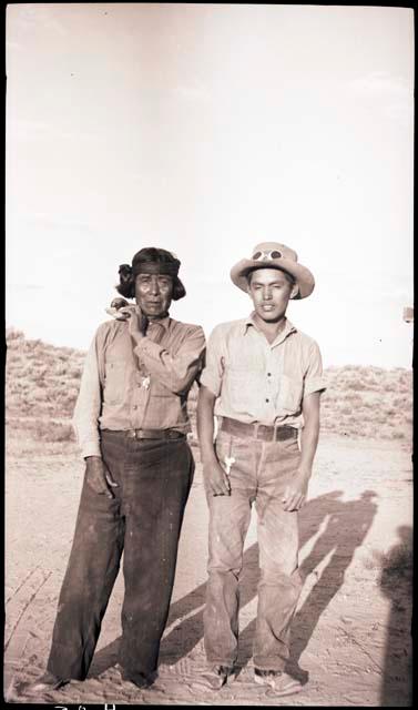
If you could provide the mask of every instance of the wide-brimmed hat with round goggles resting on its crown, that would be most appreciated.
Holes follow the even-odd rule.
[[[253,250],[251,258],[242,258],[231,270],[231,278],[242,291],[248,290],[248,274],[256,268],[279,268],[294,277],[298,292],[294,298],[306,298],[315,287],[315,278],[306,266],[297,261],[293,248],[277,242],[262,242]]]

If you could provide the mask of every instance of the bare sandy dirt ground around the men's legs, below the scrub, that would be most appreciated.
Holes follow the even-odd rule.
[[[140,691],[116,665],[120,575],[88,679],[33,699],[26,683],[43,672],[81,490],[74,445],[7,439],[4,693],[10,703],[55,706],[411,704],[411,449],[399,442],[323,435],[300,514],[305,579],[294,620],[289,668],[304,682],[277,699],[252,678],[257,544],[248,531],[242,577],[241,672],[205,692],[202,612],[207,511],[198,465],[182,531],[176,580],[155,686]]]

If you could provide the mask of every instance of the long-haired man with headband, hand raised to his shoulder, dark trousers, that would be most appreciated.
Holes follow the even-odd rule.
[[[122,678],[144,688],[156,677],[194,470],[187,394],[205,345],[200,326],[169,315],[185,295],[179,267],[154,247],[123,264],[118,291],[136,306],[103,323],[88,353],[74,412],[84,484],[48,669],[31,692],[86,677],[122,551]]]

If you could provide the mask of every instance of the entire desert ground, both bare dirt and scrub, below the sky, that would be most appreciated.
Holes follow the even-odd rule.
[[[322,435],[299,516],[304,587],[289,671],[300,693],[275,698],[256,686],[252,643],[257,604],[255,518],[241,585],[239,673],[218,692],[205,668],[207,509],[195,430],[196,471],[181,536],[159,679],[140,691],[118,667],[122,575],[84,682],[31,698],[47,665],[58,595],[83,479],[71,415],[85,353],[7,333],[4,697],[9,703],[383,706],[411,703],[412,372],[346,365],[325,371]]]

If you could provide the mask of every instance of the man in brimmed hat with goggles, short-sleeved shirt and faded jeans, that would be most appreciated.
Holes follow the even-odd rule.
[[[215,327],[201,378],[198,435],[210,508],[204,628],[211,668],[204,682],[217,689],[235,674],[238,578],[254,503],[262,570],[254,679],[283,696],[300,690],[285,672],[300,590],[297,511],[312,474],[325,388],[319,348],[286,318],[286,308],[290,298],[308,296],[315,282],[293,250],[274,242],[258,244],[231,276],[254,312]],[[215,444],[214,413],[221,419]]]

